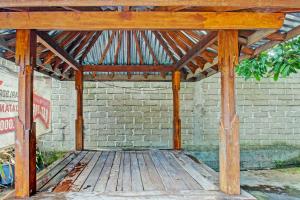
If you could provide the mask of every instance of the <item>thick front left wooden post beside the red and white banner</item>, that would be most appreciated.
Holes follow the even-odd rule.
[[[15,60],[20,67],[15,138],[15,196],[27,198],[36,192],[36,138],[33,122],[33,70],[36,64],[35,31],[17,30]]]

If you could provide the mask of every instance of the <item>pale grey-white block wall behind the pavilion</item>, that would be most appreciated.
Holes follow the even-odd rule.
[[[299,78],[277,82],[237,78],[242,146],[300,145]],[[182,83],[180,92],[183,146],[218,146],[219,75]],[[75,99],[74,83],[53,81],[53,133],[40,139],[43,147],[74,147]],[[86,82],[84,117],[87,148],[171,148],[171,83]]]

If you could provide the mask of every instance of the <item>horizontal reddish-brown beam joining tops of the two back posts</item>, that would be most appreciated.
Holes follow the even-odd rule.
[[[170,65],[84,65],[85,72],[171,72]]]

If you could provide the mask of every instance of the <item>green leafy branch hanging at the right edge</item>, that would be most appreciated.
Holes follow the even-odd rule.
[[[257,57],[246,59],[236,67],[239,76],[246,80],[255,78],[287,77],[300,69],[300,37],[278,44]]]

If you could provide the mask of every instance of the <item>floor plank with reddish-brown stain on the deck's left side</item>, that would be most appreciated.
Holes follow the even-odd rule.
[[[95,152],[88,152],[84,158],[77,163],[72,171],[55,187],[53,192],[68,192],[73,182],[78,178],[84,168],[88,165]]]

